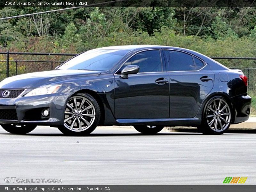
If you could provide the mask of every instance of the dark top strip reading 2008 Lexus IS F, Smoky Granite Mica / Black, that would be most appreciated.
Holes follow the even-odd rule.
[[[3,0],[1,7],[254,7],[254,0]]]

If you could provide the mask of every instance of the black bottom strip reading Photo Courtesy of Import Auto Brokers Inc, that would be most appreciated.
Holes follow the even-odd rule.
[[[86,186],[86,185],[70,185],[70,186],[47,186],[47,185],[2,185],[0,186],[1,192],[254,192],[256,186],[250,185],[200,185],[200,186],[132,186],[132,185],[99,185],[99,186]]]

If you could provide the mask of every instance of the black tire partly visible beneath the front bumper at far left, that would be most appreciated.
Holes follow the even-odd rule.
[[[33,131],[36,125],[15,125],[15,124],[1,124],[3,129],[9,133],[24,135]]]

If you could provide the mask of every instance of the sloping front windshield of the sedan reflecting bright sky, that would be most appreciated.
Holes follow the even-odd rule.
[[[77,55],[71,60],[61,65],[58,69],[77,69],[107,71],[119,61],[128,50],[90,50]]]

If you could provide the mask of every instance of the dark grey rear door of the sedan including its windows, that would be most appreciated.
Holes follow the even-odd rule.
[[[195,117],[212,90],[214,73],[199,58],[177,50],[164,50],[170,76],[170,117]]]

